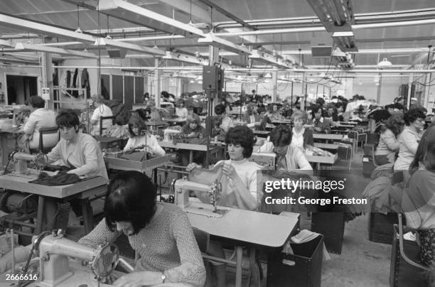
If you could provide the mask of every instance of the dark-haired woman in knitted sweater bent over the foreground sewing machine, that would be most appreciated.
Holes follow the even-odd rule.
[[[203,257],[186,212],[176,205],[156,202],[153,183],[136,170],[122,171],[111,180],[103,220],[78,243],[97,247],[113,242],[121,232],[140,259],[134,271],[117,278],[113,286],[204,285]],[[30,248],[16,250],[16,262],[25,261],[23,254],[28,255]],[[0,258],[0,271],[10,266],[11,252]]]

